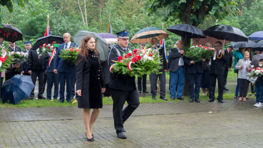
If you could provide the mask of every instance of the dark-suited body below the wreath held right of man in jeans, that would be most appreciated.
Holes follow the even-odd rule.
[[[184,58],[184,63],[187,64],[189,94],[190,94],[189,102],[195,101],[197,103],[200,103],[199,92],[200,92],[202,74],[203,74],[203,62],[205,61],[206,59],[203,58],[202,61],[195,63],[189,57]]]

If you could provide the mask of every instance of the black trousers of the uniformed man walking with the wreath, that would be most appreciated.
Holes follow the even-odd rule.
[[[130,117],[131,113],[139,106],[139,95],[137,90],[123,91],[111,89],[113,98],[113,119],[116,133],[122,132],[124,122]],[[123,109],[127,101],[128,105]]]

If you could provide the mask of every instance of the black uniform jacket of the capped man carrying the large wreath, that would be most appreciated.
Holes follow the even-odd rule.
[[[133,48],[128,46],[128,49],[133,51]],[[123,49],[120,47],[120,45],[114,46],[109,54],[108,54],[108,64],[111,66],[115,62],[112,60],[118,60],[118,52],[122,55]],[[109,87],[117,90],[124,90],[124,91],[132,91],[137,90],[136,84],[135,84],[135,76],[129,76],[129,75],[123,75],[123,74],[117,74],[117,73],[111,73],[111,78],[109,82]]]

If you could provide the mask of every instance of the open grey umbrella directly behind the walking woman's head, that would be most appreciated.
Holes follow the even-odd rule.
[[[89,32],[85,30],[77,31],[76,35],[73,37],[75,40],[75,43],[80,47],[82,39],[86,37],[87,35],[93,35],[95,37],[96,48],[99,52],[100,60],[105,61],[109,53],[109,47],[108,47],[106,40],[100,37],[97,33]]]

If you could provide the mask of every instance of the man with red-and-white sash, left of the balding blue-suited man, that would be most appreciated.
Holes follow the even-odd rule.
[[[54,47],[56,44],[56,40],[51,41],[51,45]],[[54,47],[57,53],[57,47]],[[54,95],[53,99],[57,99],[58,97],[58,84],[59,84],[59,76],[58,73],[53,72],[54,68],[54,59],[51,61],[50,66],[48,66],[48,63],[46,65],[46,74],[47,74],[47,99],[51,99],[52,95],[52,87],[54,83]]]

